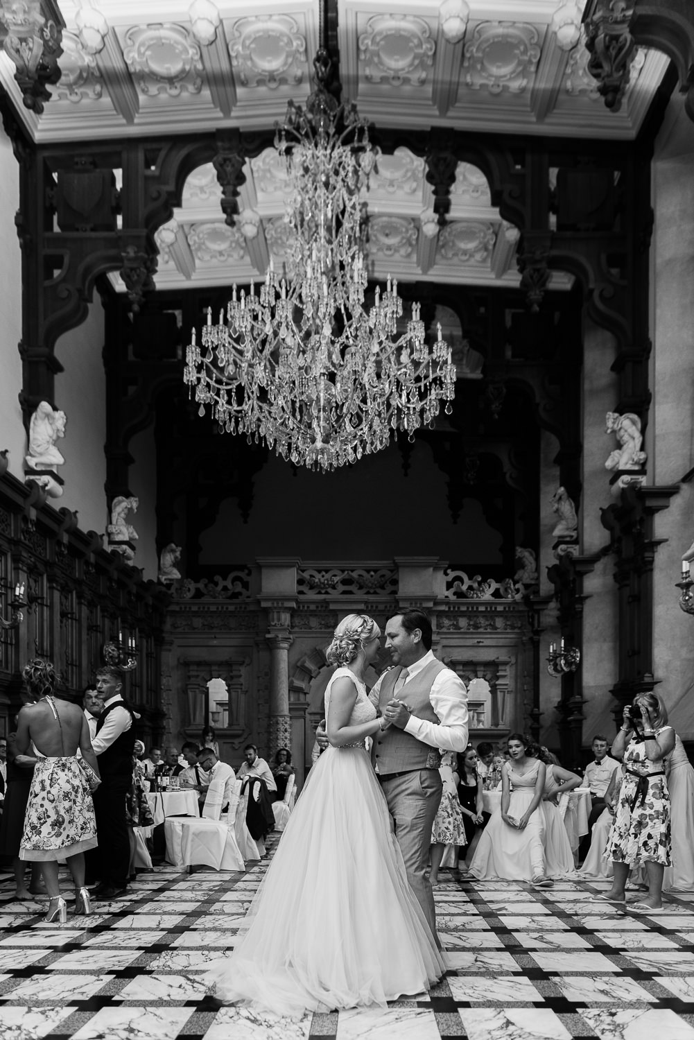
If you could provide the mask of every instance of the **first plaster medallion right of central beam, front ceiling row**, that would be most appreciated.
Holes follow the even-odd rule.
[[[359,60],[369,83],[421,86],[435,49],[429,25],[414,15],[375,15],[359,36]]]

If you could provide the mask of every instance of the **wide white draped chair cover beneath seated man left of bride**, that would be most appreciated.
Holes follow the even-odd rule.
[[[190,816],[171,816],[164,821],[166,859],[174,866],[205,864],[215,870],[243,870],[234,834],[233,822],[241,789],[240,780],[234,781],[229,799],[226,820],[194,820]],[[231,825],[229,825],[231,821]]]

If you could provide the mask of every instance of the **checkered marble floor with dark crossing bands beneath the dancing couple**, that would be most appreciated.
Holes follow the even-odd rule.
[[[694,1040],[694,893],[644,916],[593,902],[607,885],[580,881],[444,880],[451,970],[386,1012],[216,1010],[202,976],[233,947],[265,869],[142,874],[87,928],[70,914],[45,925],[45,901],[17,903],[3,880],[1,1040]]]

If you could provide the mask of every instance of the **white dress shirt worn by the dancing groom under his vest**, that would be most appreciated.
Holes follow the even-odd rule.
[[[429,650],[419,660],[409,665],[407,680],[401,688],[407,692],[408,682],[436,659],[433,651]],[[386,674],[384,672],[384,675]],[[368,695],[371,704],[376,707],[379,706],[384,675],[381,676]],[[417,740],[421,740],[422,744],[428,744],[432,748],[440,748],[442,751],[465,751],[468,716],[467,691],[463,680],[452,669],[442,669],[432,682],[429,700],[438,716],[439,724],[410,716],[405,726],[405,732],[411,733]]]

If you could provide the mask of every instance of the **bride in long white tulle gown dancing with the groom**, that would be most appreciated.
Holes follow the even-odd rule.
[[[335,629],[326,655],[338,666],[326,691],[330,747],[309,773],[251,904],[248,932],[207,977],[225,1003],[284,1015],[385,1008],[429,989],[445,970],[364,746],[387,725],[364,685],[380,634],[357,614]]]

